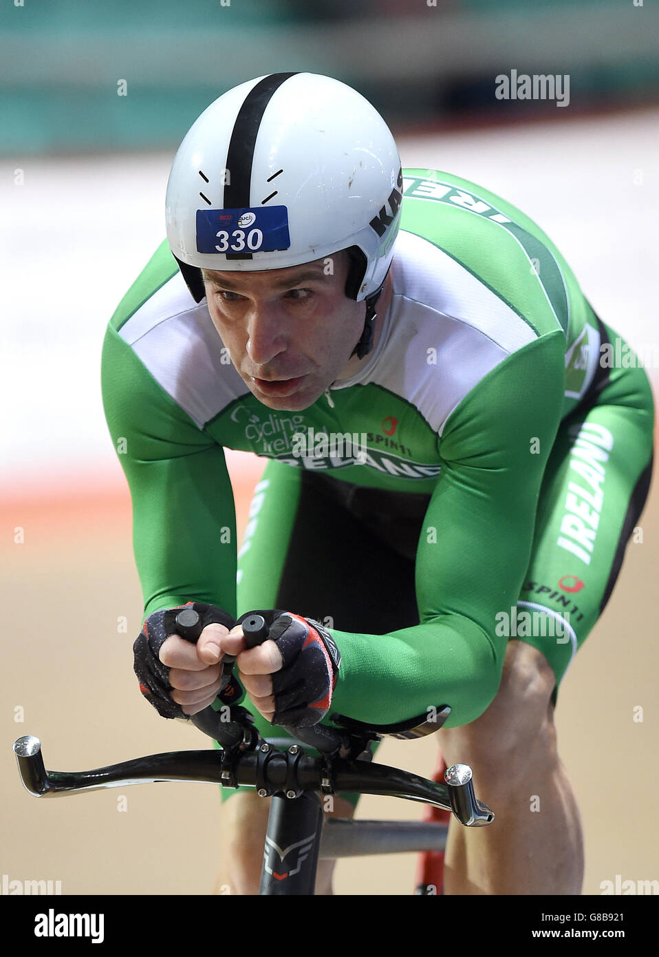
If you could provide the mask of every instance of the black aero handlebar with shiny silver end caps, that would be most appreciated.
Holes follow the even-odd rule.
[[[191,642],[196,642],[202,631],[199,614],[189,608],[177,614],[176,626],[178,634]],[[268,627],[260,614],[246,618],[242,629],[250,648],[268,639]],[[231,677],[235,657],[225,656],[223,660],[225,675]],[[221,751],[167,751],[76,772],[46,770],[41,742],[33,735],[18,738],[13,751],[23,785],[36,797],[141,782],[202,781],[226,788],[247,785],[254,787],[261,797],[285,794],[297,798],[304,791],[333,794],[341,790],[388,794],[450,811],[466,827],[490,824],[494,813],[476,798],[472,768],[468,765],[452,765],[441,784],[399,768],[369,763],[369,743],[380,740],[383,734],[418,737],[437,730],[446,721],[450,707],[442,705],[434,710],[437,718],[432,722],[419,723],[419,719],[415,719],[411,723],[378,728],[334,715],[333,720],[343,725],[341,728],[323,724],[286,728],[293,738],[316,748],[320,757],[304,753],[298,744],[279,750],[260,737],[253,726],[251,712],[240,705],[224,704],[220,698],[193,715],[191,721],[217,741],[223,748]]]

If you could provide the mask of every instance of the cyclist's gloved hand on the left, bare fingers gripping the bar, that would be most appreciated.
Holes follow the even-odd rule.
[[[199,612],[204,626],[196,645],[176,634],[182,608]],[[163,718],[189,718],[208,707],[224,687],[220,640],[234,619],[213,605],[188,602],[150,614],[133,645],[140,690]]]

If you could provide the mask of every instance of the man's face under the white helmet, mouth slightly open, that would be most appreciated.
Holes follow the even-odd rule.
[[[297,412],[340,378],[365,315],[344,295],[348,264],[340,252],[287,269],[202,271],[213,325],[259,402]]]

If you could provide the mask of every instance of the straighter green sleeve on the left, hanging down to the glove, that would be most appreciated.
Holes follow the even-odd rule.
[[[223,448],[169,398],[111,326],[101,389],[133,501],[144,616],[187,601],[235,615],[235,508]]]

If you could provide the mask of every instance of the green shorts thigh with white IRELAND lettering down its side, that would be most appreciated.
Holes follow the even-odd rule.
[[[560,679],[604,611],[643,510],[652,441],[652,394],[642,367],[599,370],[590,398],[560,425],[512,635],[549,661],[555,703]]]

